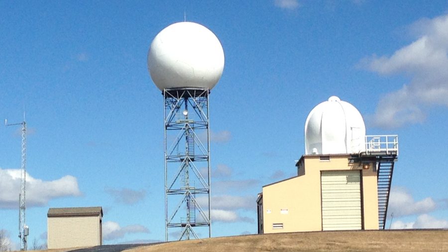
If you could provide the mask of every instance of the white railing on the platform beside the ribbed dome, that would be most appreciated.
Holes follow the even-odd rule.
[[[365,136],[365,151],[367,154],[385,153],[398,156],[398,136]]]

